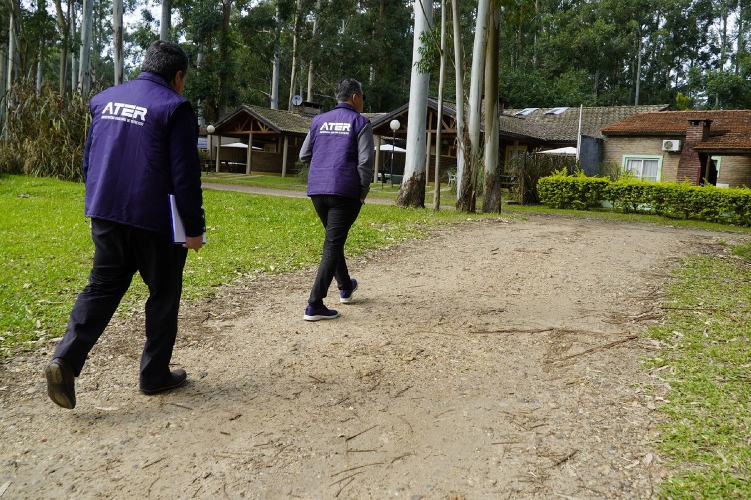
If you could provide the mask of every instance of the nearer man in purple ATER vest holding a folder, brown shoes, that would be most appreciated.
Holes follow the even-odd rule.
[[[46,369],[47,394],[63,408],[76,406],[75,377],[136,271],[149,287],[139,390],[157,394],[187,378],[185,370],[170,372],[182,269],[204,233],[198,121],[182,97],[187,72],[180,46],[156,41],[137,79],[107,88],[89,105],[83,181],[94,263]],[[185,226],[182,245],[172,241],[170,194]]]

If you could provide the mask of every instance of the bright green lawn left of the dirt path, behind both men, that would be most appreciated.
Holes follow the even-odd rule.
[[[204,206],[209,244],[189,253],[187,300],[207,297],[238,277],[295,271],[320,259],[323,230],[308,199],[205,190]],[[467,217],[369,204],[350,232],[347,251],[356,256]],[[86,286],[93,244],[83,217],[83,184],[0,177],[0,228],[0,356],[9,356],[61,336]],[[145,297],[136,277],[120,312],[143,307]]]

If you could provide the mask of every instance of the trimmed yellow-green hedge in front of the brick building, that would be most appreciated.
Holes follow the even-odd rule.
[[[587,210],[611,202],[614,210],[751,226],[751,189],[693,186],[621,178],[550,175],[538,182],[540,201],[553,208]]]

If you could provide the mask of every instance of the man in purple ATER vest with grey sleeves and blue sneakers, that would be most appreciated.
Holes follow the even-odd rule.
[[[363,112],[365,94],[354,78],[334,88],[339,104],[316,115],[300,149],[300,161],[310,163],[308,196],[326,229],[324,250],[303,319],[318,321],[339,316],[324,305],[336,278],[339,302],[349,304],[357,280],[349,276],[344,244],[370,190],[373,170],[373,131]]]

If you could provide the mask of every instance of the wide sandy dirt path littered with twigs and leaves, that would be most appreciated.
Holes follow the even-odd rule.
[[[47,400],[49,349],[0,365],[3,499],[647,499],[663,385],[639,360],[659,346],[624,336],[719,237],[444,226],[352,261],[330,322],[301,319],[313,270],[263,277],[183,307],[190,382],[155,397],[136,391],[143,317],[120,319],[72,412]]]

